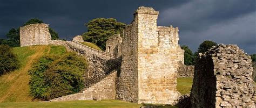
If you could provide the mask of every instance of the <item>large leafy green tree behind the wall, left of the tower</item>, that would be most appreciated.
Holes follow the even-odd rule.
[[[113,34],[122,34],[124,23],[118,22],[113,18],[96,18],[85,24],[87,32],[83,33],[83,39],[92,42],[105,50],[106,40]]]

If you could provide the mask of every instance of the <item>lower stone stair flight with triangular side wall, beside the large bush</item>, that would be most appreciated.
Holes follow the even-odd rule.
[[[114,99],[115,80],[117,67],[121,62],[116,63],[102,75],[92,77],[85,83],[85,88],[78,93],[50,99],[50,102],[70,101],[70,100],[93,100],[93,99]]]

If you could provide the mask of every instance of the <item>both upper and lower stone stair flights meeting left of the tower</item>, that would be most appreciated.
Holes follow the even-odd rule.
[[[50,102],[69,101],[69,100],[92,100],[92,99],[114,99],[115,98],[115,80],[117,69],[120,67],[122,60],[118,59],[111,53],[99,51],[90,48],[76,41],[66,41],[66,45],[79,54],[96,54],[97,56],[110,57],[117,59],[117,62],[108,68],[97,72],[85,82],[85,88],[78,93],[51,99]],[[67,47],[67,46],[66,46]],[[114,85],[114,86],[113,86]]]

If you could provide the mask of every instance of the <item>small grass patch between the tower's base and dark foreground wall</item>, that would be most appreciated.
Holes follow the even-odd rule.
[[[184,95],[185,93],[190,93],[193,84],[193,78],[177,78],[177,83],[177,91]]]

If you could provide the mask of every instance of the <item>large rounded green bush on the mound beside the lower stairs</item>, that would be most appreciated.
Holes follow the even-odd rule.
[[[49,100],[83,89],[86,62],[75,53],[44,56],[29,71],[30,95]]]

